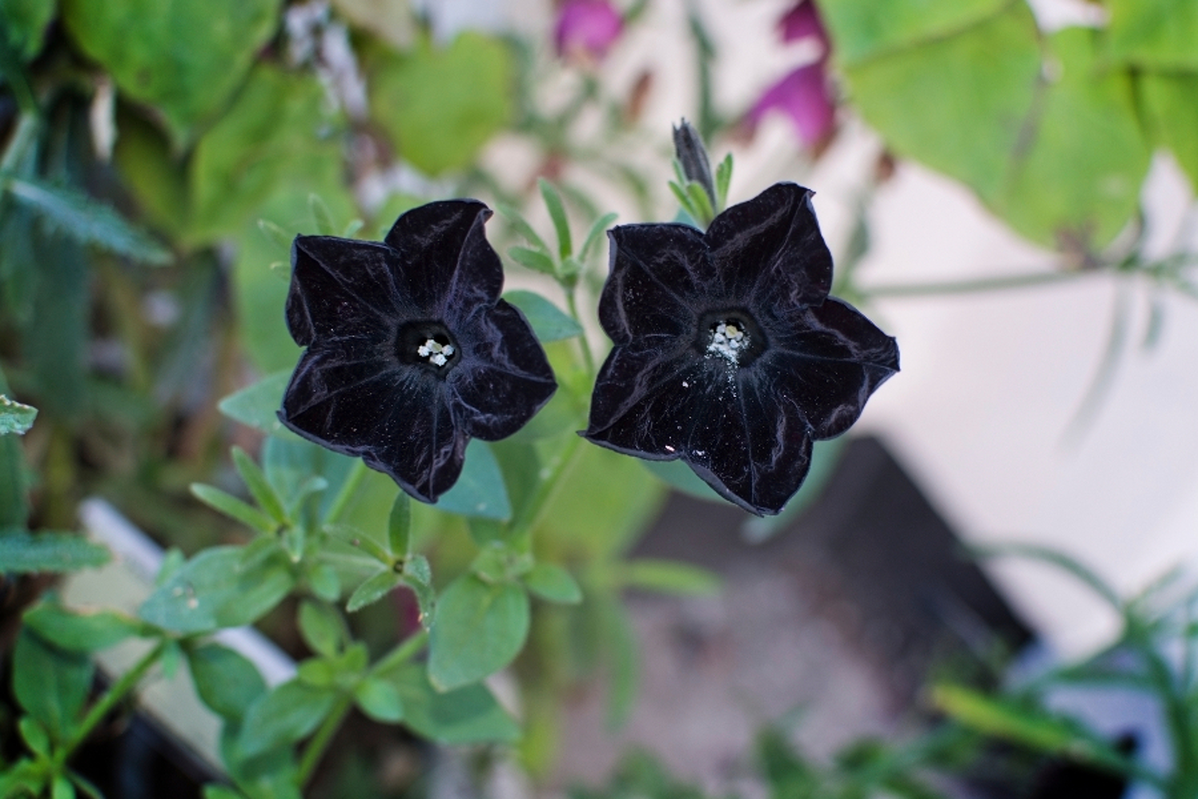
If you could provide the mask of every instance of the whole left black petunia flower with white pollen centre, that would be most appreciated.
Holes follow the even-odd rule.
[[[383,242],[297,236],[288,329],[300,358],[279,419],[386,472],[424,502],[453,486],[473,436],[519,430],[557,383],[477,200],[430,202]]]

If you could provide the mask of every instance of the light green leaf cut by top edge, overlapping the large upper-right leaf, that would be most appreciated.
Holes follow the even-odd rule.
[[[1006,0],[827,0],[819,14],[845,65],[949,38],[1008,7]]]

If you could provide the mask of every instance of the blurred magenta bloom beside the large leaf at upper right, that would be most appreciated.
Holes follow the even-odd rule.
[[[828,91],[828,34],[811,0],[801,0],[778,23],[783,42],[812,41],[819,55],[812,63],[786,74],[766,90],[749,111],[749,123],[756,127],[768,114],[785,114],[794,125],[799,140],[816,147],[827,139],[836,122],[836,104]]]

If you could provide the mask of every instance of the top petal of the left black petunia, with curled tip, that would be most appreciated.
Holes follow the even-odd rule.
[[[412,208],[392,225],[385,241],[403,265],[397,283],[429,317],[500,296],[503,267],[483,234],[490,216],[478,200],[443,200]]]

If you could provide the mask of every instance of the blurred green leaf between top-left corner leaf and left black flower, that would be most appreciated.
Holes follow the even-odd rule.
[[[298,176],[325,168],[338,159],[335,139],[322,137],[320,128],[331,120],[325,110],[325,92],[310,74],[259,66],[250,74],[237,102],[195,147],[190,163],[194,235],[201,240],[234,234],[247,220],[262,216],[260,210],[272,194],[297,184]],[[309,189],[304,198],[314,196]],[[316,205],[323,206],[322,210]],[[325,235],[337,232],[333,214],[323,200],[309,213]],[[256,231],[255,231],[256,232]],[[289,238],[284,252],[291,252]],[[259,234],[259,237],[261,235]],[[271,242],[278,259],[277,243]]]

